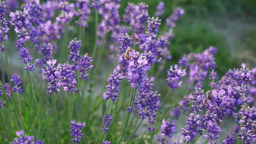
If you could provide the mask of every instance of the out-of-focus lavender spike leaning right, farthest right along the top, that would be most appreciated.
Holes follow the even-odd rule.
[[[175,27],[176,21],[181,18],[181,16],[184,14],[184,9],[182,8],[176,8],[174,9],[173,14],[166,19],[166,25],[168,27]]]

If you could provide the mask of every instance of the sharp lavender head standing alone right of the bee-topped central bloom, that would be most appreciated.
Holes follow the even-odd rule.
[[[174,65],[174,69],[173,66],[171,65],[169,71],[167,71],[167,79],[166,81],[168,81],[168,86],[171,89],[176,89],[178,87],[182,86],[182,81],[181,77],[184,77],[186,75],[186,71],[185,69],[179,68],[177,64]]]

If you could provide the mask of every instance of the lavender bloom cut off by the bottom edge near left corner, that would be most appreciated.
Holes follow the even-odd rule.
[[[10,142],[10,144],[44,144],[43,141],[41,140],[36,140],[35,143],[35,138],[34,136],[27,136],[24,134],[24,130],[20,130],[16,132],[16,137],[13,142]]]

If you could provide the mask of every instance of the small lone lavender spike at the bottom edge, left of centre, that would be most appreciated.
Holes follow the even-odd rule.
[[[74,137],[71,139],[73,141],[73,144],[80,143],[80,139],[82,138],[82,127],[84,127],[85,125],[85,123],[81,122],[76,123],[75,120],[71,121],[70,135]]]

